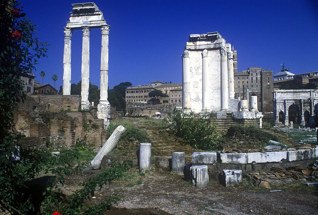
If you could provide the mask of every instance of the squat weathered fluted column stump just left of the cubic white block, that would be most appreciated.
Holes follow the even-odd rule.
[[[192,184],[198,188],[206,187],[209,182],[208,166],[192,166],[190,167]]]

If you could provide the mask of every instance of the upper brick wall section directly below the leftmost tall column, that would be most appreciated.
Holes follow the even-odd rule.
[[[37,103],[43,105],[45,110],[58,112],[67,110],[78,111],[81,97],[79,95],[30,95]]]

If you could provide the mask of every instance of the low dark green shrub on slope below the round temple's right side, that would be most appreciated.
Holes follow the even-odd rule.
[[[265,143],[268,143],[269,140],[279,141],[276,135],[268,133],[255,126],[233,125],[229,128],[225,136],[235,136],[239,139],[254,139]]]

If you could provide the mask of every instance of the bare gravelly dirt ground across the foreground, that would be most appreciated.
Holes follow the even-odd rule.
[[[225,188],[210,182],[197,189],[181,176],[152,171],[140,183],[125,187],[123,179],[105,187],[94,201],[118,190],[124,197],[105,214],[318,214],[318,193],[297,191],[255,191],[242,186]]]

